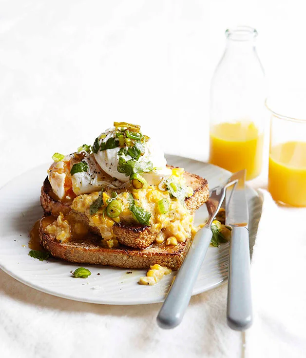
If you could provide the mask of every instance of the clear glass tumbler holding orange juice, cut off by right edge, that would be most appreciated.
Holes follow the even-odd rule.
[[[306,207],[306,120],[270,111],[268,190],[280,204]]]

